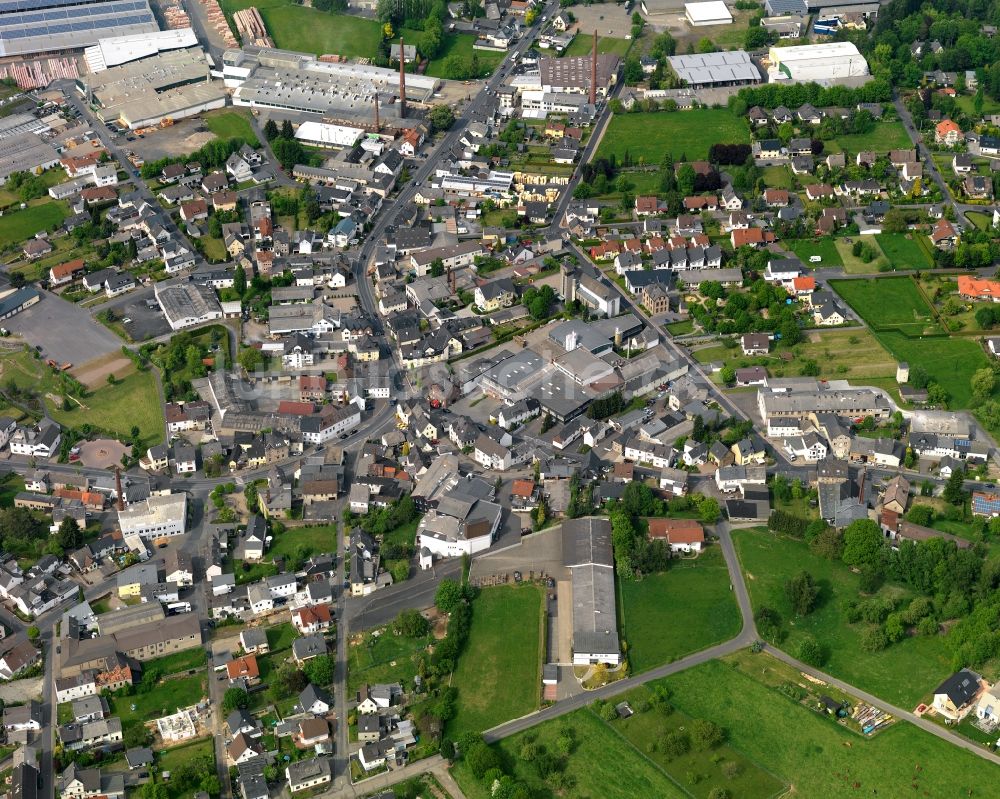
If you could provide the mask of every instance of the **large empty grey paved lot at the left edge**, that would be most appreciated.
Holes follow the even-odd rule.
[[[85,308],[47,291],[41,294],[41,302],[6,320],[4,326],[31,346],[41,347],[43,357],[80,366],[121,349],[121,339]]]

